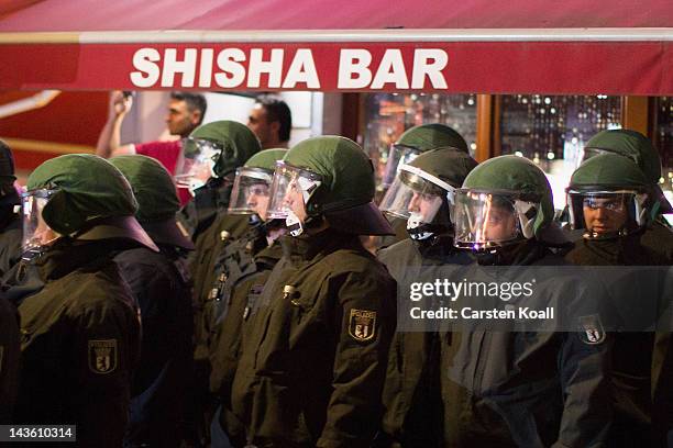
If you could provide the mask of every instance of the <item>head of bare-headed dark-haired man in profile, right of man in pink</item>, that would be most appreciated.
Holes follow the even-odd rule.
[[[262,149],[287,148],[293,115],[285,101],[260,97],[250,112],[247,127],[260,138]]]

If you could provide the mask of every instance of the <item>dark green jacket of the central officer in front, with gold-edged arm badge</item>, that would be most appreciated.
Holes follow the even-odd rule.
[[[368,447],[395,332],[395,281],[357,236],[282,237],[233,383],[249,441]]]

